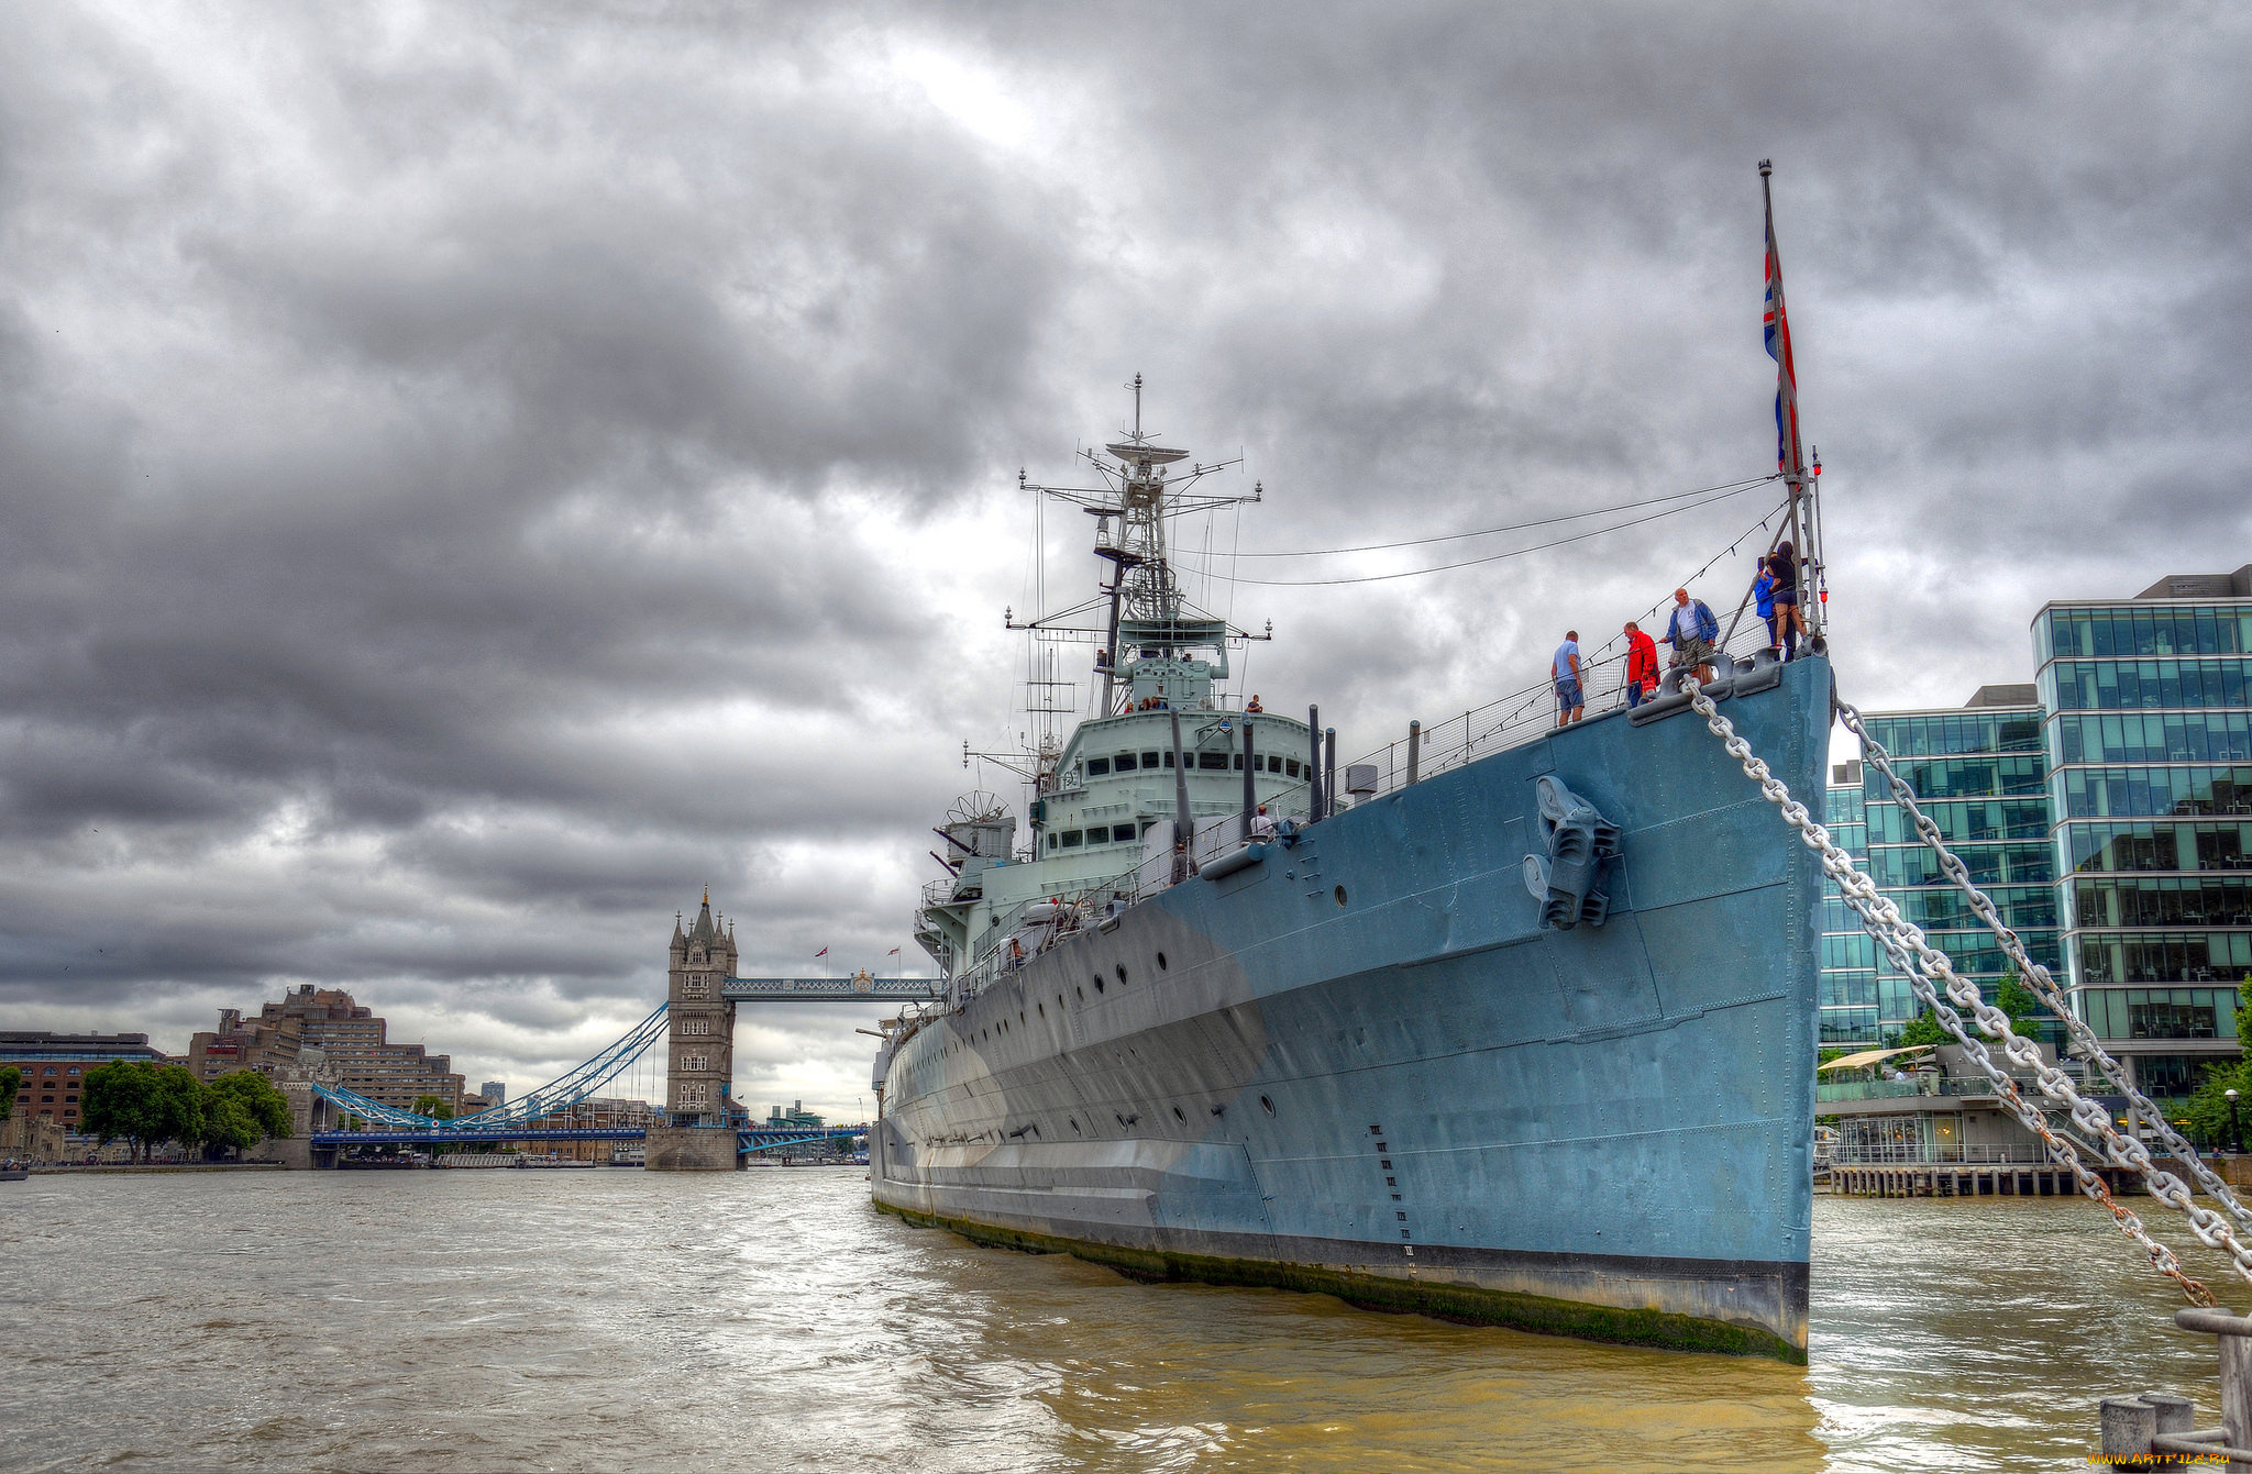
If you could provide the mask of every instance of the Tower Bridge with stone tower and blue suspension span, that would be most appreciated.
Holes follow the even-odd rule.
[[[320,1166],[356,1145],[473,1145],[518,1141],[642,1141],[658,1170],[727,1170],[750,1152],[865,1136],[867,1125],[752,1125],[730,1098],[736,1004],[883,1004],[944,997],[944,983],[914,977],[736,977],[734,925],[712,918],[705,891],[696,923],[673,920],[664,1001],[624,1037],[516,1100],[457,1121],[439,1121],[358,1091],[313,1085],[309,1145]],[[572,1109],[664,1042],[660,1123],[577,1121]],[[556,1118],[563,1123],[556,1123]]]

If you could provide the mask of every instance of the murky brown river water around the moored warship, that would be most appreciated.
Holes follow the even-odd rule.
[[[5,1469],[2056,1469],[2101,1395],[2216,1406],[2047,1199],[1817,1197],[1804,1368],[1137,1285],[838,1168],[34,1177],[0,1296]]]

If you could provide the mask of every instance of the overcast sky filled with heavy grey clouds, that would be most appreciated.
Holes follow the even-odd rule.
[[[2045,599],[2252,558],[2245,74],[2223,7],[20,7],[0,1019],[318,981],[520,1089],[705,882],[745,970],[921,961],[1022,731],[1018,468],[1140,371],[1266,488],[1221,547],[1757,477],[1759,158],[1847,698],[2029,680]],[[1761,495],[1209,599],[1358,752]],[[741,1094],[849,1109],[858,1022],[745,1013]]]

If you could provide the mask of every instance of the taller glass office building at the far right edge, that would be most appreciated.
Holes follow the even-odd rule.
[[[2049,603],[2034,659],[2074,1010],[2187,1094],[2252,977],[2252,567]]]

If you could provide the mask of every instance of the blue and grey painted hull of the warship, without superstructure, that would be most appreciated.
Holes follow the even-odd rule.
[[[1820,792],[1831,677],[1723,711]],[[1601,925],[1522,880],[1554,774]],[[881,1060],[881,1208],[1146,1278],[1806,1355],[1820,866],[1694,713],[1583,722],[1173,887]]]

